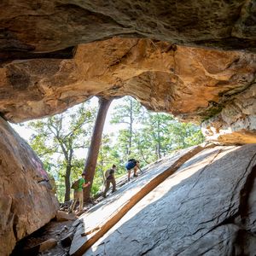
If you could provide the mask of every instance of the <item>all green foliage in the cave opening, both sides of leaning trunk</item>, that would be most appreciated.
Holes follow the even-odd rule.
[[[64,201],[67,189],[68,166],[72,166],[72,181],[80,177],[84,169],[86,152],[79,159],[78,150],[88,147],[96,115],[89,104],[29,124],[35,131],[30,144],[44,161],[44,168],[55,177],[60,201]],[[167,113],[149,112],[129,96],[114,108],[111,122],[118,124],[119,130],[102,136],[92,195],[102,189],[104,172],[113,164],[117,166],[115,177],[120,177],[126,173],[125,162],[129,158],[138,159],[141,166],[145,166],[173,150],[204,141],[198,126],[180,123]]]

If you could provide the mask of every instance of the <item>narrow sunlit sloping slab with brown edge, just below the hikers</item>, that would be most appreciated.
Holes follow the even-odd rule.
[[[90,208],[80,217],[83,219],[73,238],[69,253],[71,255],[81,255],[97,239],[103,236],[113,224],[116,224],[126,212],[133,207],[137,201],[154,189],[166,177],[169,177],[184,161],[198,152],[203,150],[201,146],[184,149],[170,158],[161,160],[154,165],[148,166],[143,175],[126,183],[118,188],[107,200],[97,204],[96,207]],[[85,236],[83,236],[85,235]]]

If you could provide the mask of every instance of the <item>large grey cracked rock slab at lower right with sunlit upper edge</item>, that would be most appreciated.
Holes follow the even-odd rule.
[[[255,255],[256,144],[186,161],[84,253]]]

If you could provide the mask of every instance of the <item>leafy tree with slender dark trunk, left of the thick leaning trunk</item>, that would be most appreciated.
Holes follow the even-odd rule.
[[[30,139],[32,148],[43,161],[49,161],[53,154],[61,154],[59,166],[65,168],[65,201],[70,200],[70,176],[75,162],[74,151],[88,147],[86,136],[90,134],[84,124],[90,124],[94,119],[94,110],[85,107],[69,110],[67,113],[57,114],[47,119],[32,121],[28,124],[35,133]],[[90,130],[89,130],[90,131]]]

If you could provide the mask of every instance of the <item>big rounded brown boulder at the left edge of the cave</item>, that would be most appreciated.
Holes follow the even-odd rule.
[[[0,255],[55,217],[58,201],[43,164],[0,118]]]

